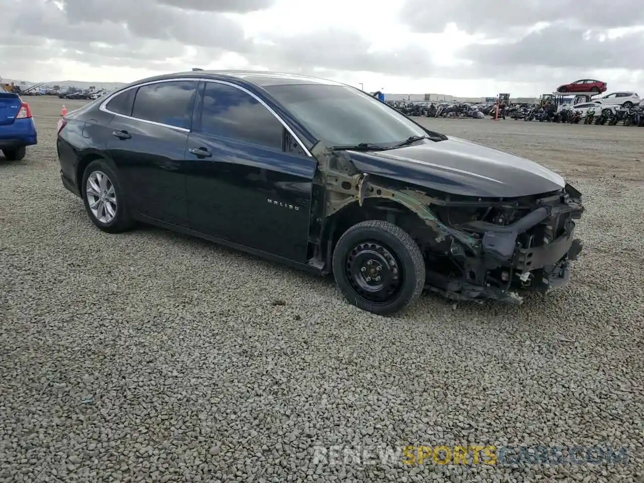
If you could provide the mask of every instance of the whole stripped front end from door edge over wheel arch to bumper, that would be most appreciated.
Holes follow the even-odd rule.
[[[582,194],[570,184],[520,198],[473,198],[362,173],[345,152],[321,143],[312,152],[320,166],[320,202],[313,209],[316,251],[309,263],[323,270],[330,267],[334,232],[346,211],[354,217],[339,222],[340,232],[365,219],[408,232],[424,257],[426,289],[449,299],[522,303],[523,292],[563,285],[582,251],[574,238]]]

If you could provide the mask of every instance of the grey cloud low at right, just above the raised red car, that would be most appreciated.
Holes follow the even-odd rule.
[[[473,44],[457,55],[474,61],[477,69],[481,66],[495,69],[551,66],[577,71],[636,70],[644,66],[644,32],[625,33],[616,39],[609,39],[597,32],[573,29],[558,23],[529,33],[515,43]],[[581,74],[580,78],[583,76]]]

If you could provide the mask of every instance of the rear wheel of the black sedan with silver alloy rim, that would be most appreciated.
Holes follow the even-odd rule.
[[[118,176],[103,160],[95,160],[82,176],[82,195],[91,221],[102,231],[118,233],[132,226]]]

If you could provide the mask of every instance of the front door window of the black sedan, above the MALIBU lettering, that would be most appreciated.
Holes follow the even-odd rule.
[[[283,129],[252,95],[227,84],[205,82],[200,131],[281,150]]]

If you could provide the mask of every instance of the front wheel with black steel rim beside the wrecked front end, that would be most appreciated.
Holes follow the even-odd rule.
[[[333,272],[350,303],[379,315],[411,305],[425,283],[417,243],[397,225],[381,220],[357,223],[340,237]]]

